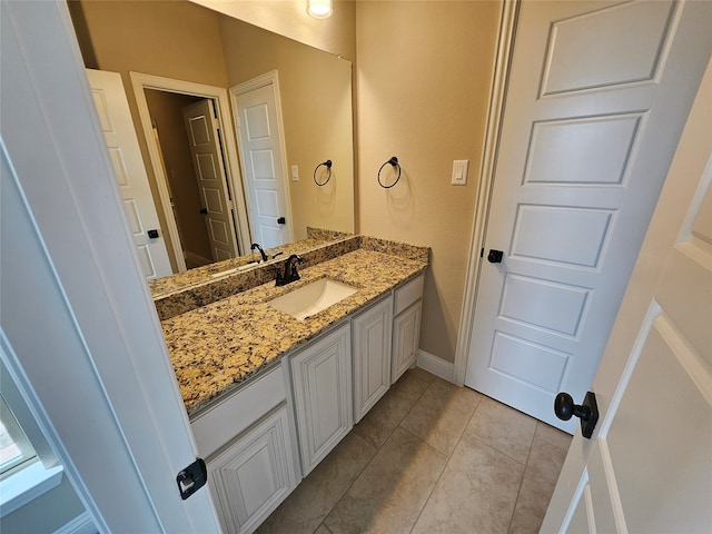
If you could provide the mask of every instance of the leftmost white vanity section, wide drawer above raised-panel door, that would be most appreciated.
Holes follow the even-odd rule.
[[[226,533],[254,532],[300,481],[285,370],[254,378],[190,423]]]

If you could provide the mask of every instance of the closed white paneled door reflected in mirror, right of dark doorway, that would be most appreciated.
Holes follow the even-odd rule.
[[[230,89],[253,240],[264,248],[278,247],[291,240],[276,82],[256,88],[249,88],[248,82],[248,88],[238,86]]]

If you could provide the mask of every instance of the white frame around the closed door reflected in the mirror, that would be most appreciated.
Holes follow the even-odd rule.
[[[256,89],[261,89],[263,87],[271,86],[274,95],[275,95],[275,109],[277,113],[277,121],[279,122],[279,151],[281,152],[281,187],[283,195],[285,197],[285,209],[286,217],[289,221],[289,226],[287,227],[287,243],[294,241],[294,217],[291,216],[291,197],[289,195],[289,178],[288,178],[288,165],[287,165],[287,142],[285,141],[285,121],[284,115],[281,112],[281,96],[279,93],[279,75],[276,70],[270,70],[269,72],[265,72],[251,80],[244,81],[238,83],[237,86],[230,87],[230,103],[233,105],[233,117],[235,117],[235,131],[237,134],[238,139],[238,154],[240,157],[241,168],[245,168],[245,155],[243,154],[243,130],[241,123],[239,120],[239,115],[237,113],[237,97],[245,95],[247,92],[254,91]],[[246,177],[243,175],[243,186],[244,190],[248,190],[248,184],[246,182]],[[249,195],[245,195],[247,201],[249,202]],[[250,219],[251,221],[251,219]],[[250,228],[251,230],[251,228]]]

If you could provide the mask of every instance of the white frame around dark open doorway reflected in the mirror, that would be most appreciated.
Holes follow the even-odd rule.
[[[224,136],[224,151],[226,157],[226,174],[230,189],[233,190],[233,209],[237,220],[237,229],[233,228],[233,237],[239,250],[247,250],[250,245],[249,222],[247,220],[247,206],[245,205],[245,192],[243,189],[243,180],[240,179],[240,167],[238,165],[237,144],[233,134],[233,123],[229,116],[229,100],[227,91],[220,87],[207,86],[205,83],[196,83],[192,81],[176,80],[161,76],[146,75],[141,72],[129,72],[131,77],[131,86],[134,87],[134,96],[144,129],[144,139],[148,147],[148,155],[156,177],[158,186],[158,196],[166,217],[168,226],[168,235],[176,256],[176,263],[180,273],[186,270],[186,260],[182,256],[182,247],[180,246],[180,236],[178,234],[178,225],[174,217],[170,205],[170,194],[168,192],[168,177],[164,170],[162,159],[155,142],[154,126],[151,123],[150,111],[146,100],[145,89],[155,89],[158,91],[177,92],[181,95],[190,95],[194,97],[209,98],[216,103],[218,122]]]

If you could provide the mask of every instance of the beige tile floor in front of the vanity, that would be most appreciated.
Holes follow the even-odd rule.
[[[570,443],[411,369],[257,532],[535,533]]]

